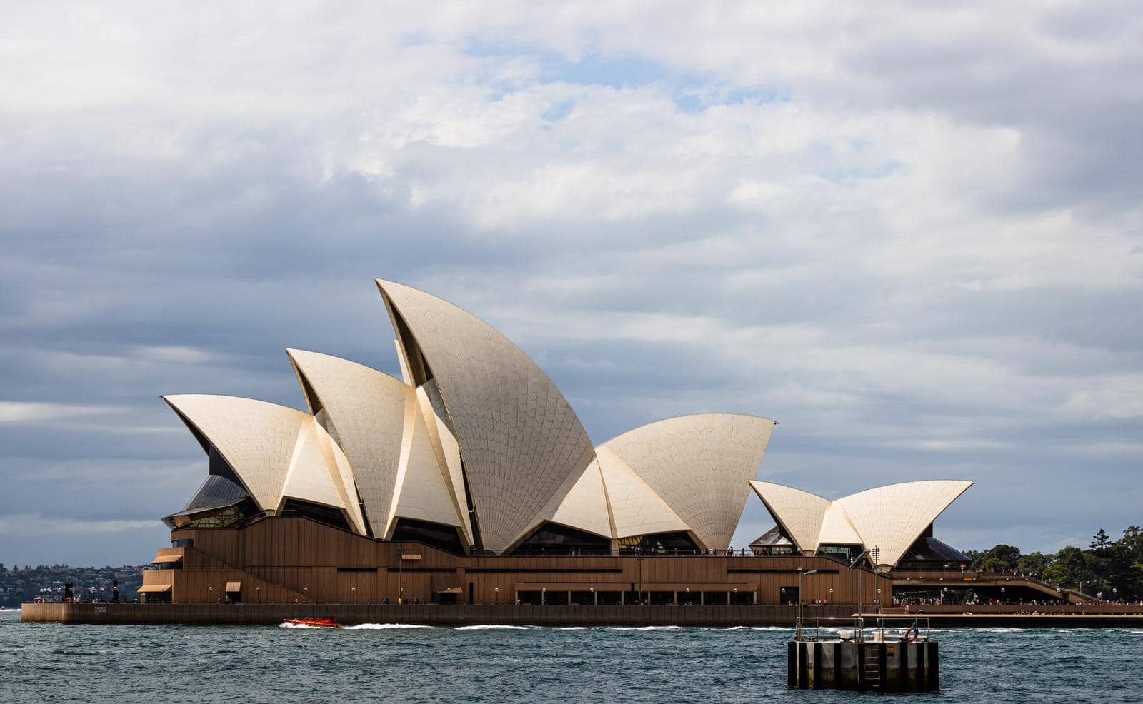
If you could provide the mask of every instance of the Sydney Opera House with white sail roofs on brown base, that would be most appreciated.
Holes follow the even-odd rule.
[[[970,482],[829,501],[754,481],[775,422],[750,415],[669,418],[593,445],[502,334],[424,291],[377,287],[401,378],[288,350],[305,410],[165,397],[208,474],[163,518],[171,547],[143,599],[783,603],[816,569],[802,599],[852,603],[862,571],[866,589],[892,589],[896,570],[966,559],[933,521]],[[732,549],[751,489],[776,525]]]

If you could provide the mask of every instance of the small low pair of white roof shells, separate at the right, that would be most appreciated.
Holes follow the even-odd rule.
[[[893,566],[973,482],[906,481],[832,502],[772,482],[750,485],[802,552],[816,551],[822,545],[862,545],[878,549],[877,565]]]

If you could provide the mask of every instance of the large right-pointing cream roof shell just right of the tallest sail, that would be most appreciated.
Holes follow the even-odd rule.
[[[637,427],[601,447],[678,514],[700,546],[726,550],[773,429],[769,418],[697,414]]]

